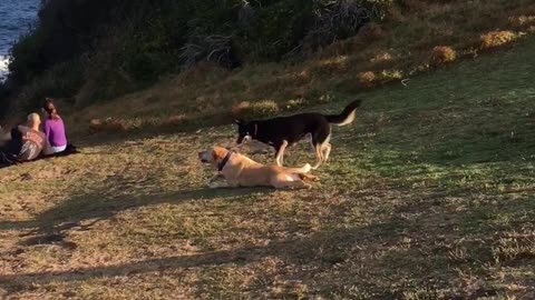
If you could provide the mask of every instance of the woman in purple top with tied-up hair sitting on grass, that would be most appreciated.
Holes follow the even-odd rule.
[[[67,148],[67,137],[65,136],[64,120],[59,117],[58,110],[50,98],[45,100],[42,110],[47,114],[42,129],[54,149],[54,152],[58,153],[65,151]]]

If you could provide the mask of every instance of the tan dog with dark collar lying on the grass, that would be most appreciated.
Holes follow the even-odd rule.
[[[305,182],[304,179],[317,179],[314,176],[307,174],[311,169],[309,163],[302,168],[265,166],[222,147],[212,147],[206,151],[198,152],[198,158],[202,162],[214,164],[218,170],[217,174],[208,180],[210,188],[273,187],[275,189],[310,189],[312,186]],[[223,177],[226,182],[215,183],[214,181],[220,177]]]

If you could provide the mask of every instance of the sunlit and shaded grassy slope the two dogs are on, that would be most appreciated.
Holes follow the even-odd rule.
[[[0,298],[534,299],[534,51],[354,94],[311,190],[207,189],[230,126],[0,170]]]

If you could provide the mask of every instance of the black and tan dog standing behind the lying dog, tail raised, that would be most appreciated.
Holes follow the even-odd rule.
[[[340,114],[309,112],[266,120],[236,120],[237,143],[241,144],[245,138],[249,138],[270,144],[276,151],[276,164],[282,166],[285,148],[309,134],[318,159],[312,168],[317,169],[329,159],[331,152],[331,144],[329,143],[331,124],[347,126],[351,123],[361,102],[361,100],[352,101]]]

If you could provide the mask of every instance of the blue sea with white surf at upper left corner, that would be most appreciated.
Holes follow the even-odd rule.
[[[0,80],[8,71],[13,41],[35,22],[40,3],[41,0],[0,0]]]

